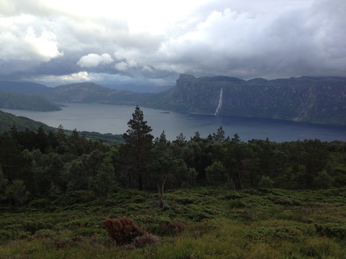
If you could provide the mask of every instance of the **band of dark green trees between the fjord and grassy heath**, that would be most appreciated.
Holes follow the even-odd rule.
[[[0,135],[0,198],[27,199],[92,190],[100,198],[117,187],[158,191],[194,184],[228,184],[233,189],[276,187],[325,189],[346,185],[346,142],[304,140],[242,142],[237,134],[203,138],[181,133],[170,142],[152,128],[137,106],[124,144],[88,140],[73,131],[18,131]]]

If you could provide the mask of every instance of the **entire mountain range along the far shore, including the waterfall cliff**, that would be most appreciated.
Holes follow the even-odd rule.
[[[38,95],[49,102],[98,102],[161,108],[185,113],[267,117],[346,125],[346,78],[299,77],[251,79],[181,75],[161,93],[133,93],[98,84],[48,88],[40,84],[0,81],[0,91]]]

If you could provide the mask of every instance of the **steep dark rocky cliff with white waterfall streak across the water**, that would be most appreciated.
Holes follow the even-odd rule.
[[[173,98],[179,111],[191,113],[346,124],[346,78],[341,77],[245,81],[181,75]]]

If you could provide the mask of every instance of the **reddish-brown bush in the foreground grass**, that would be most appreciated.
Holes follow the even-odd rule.
[[[147,233],[142,227],[138,226],[131,218],[122,217],[111,220],[107,218],[103,222],[109,238],[116,244],[129,244],[134,238],[143,236]]]

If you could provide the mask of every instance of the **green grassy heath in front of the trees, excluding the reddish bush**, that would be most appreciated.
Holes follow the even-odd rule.
[[[345,187],[196,187],[164,198],[163,209],[156,193],[137,190],[106,201],[78,192],[25,208],[2,205],[0,258],[346,258]],[[109,242],[102,221],[125,215],[159,241],[140,249]]]

